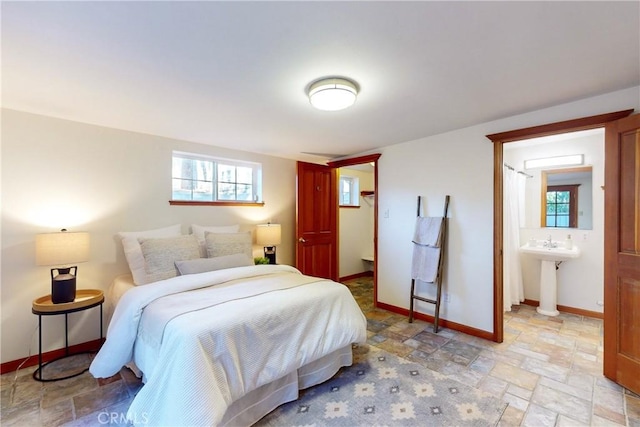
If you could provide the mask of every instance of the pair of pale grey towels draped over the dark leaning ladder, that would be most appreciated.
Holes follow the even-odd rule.
[[[440,263],[442,217],[417,217],[413,236],[411,278],[433,283]]]

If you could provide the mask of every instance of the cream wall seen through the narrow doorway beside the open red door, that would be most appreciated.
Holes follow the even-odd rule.
[[[341,175],[358,178],[360,191],[373,191],[373,172],[340,168]],[[340,277],[367,271],[368,264],[362,260],[363,256],[373,256],[373,227],[374,207],[372,197],[361,197],[359,208],[339,209],[339,248],[340,248]],[[370,264],[370,263],[369,263]]]

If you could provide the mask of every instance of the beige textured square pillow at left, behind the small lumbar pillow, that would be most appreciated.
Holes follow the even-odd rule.
[[[144,256],[147,283],[178,275],[176,261],[200,258],[198,239],[194,235],[138,239]]]

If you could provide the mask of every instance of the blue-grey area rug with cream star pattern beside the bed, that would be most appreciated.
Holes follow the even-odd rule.
[[[360,350],[360,351],[358,351]],[[493,426],[507,404],[375,347],[257,426]]]

